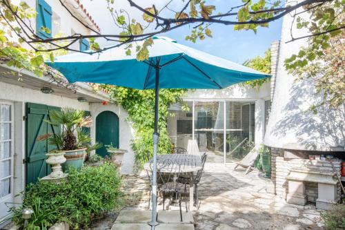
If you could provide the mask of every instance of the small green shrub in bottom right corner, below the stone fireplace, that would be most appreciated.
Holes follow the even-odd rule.
[[[328,230],[345,229],[345,204],[337,204],[332,209],[322,213],[322,221]]]

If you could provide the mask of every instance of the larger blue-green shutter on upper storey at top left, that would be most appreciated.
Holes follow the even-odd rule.
[[[52,37],[52,8],[44,0],[36,1],[37,21],[36,29],[37,35],[41,39]],[[43,29],[42,28],[46,28]],[[47,31],[50,30],[50,31]]]

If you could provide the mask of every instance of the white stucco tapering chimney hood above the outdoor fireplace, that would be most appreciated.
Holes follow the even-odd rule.
[[[306,13],[299,16],[308,19]],[[296,77],[285,70],[284,60],[297,54],[302,46],[306,46],[306,39],[286,44],[286,41],[291,39],[292,21],[293,17],[286,15],[282,24],[275,93],[264,143],[276,148],[344,151],[345,107],[331,110],[322,106],[317,115],[311,113],[310,106],[321,101],[321,98],[315,95],[314,82],[295,81]],[[294,37],[306,35],[306,30],[297,30],[296,26],[292,28]]]

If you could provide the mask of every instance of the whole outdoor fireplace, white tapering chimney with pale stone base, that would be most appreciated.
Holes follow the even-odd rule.
[[[291,23],[286,17],[282,26],[291,28]],[[315,82],[297,79],[284,66],[285,59],[298,53],[306,40],[286,43],[289,40],[290,29],[283,29],[282,40],[270,48],[271,107],[264,144],[271,148],[275,193],[289,203],[313,202],[319,209],[328,209],[341,198],[335,172],[340,173],[341,161],[345,160],[345,105],[322,105],[317,106],[316,113],[311,111],[311,106],[323,100],[315,92]],[[309,160],[310,155],[317,157]],[[328,160],[320,160],[321,155],[334,156],[334,171]]]

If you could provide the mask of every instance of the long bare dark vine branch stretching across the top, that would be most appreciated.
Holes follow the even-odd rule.
[[[3,2],[7,2],[7,1],[8,0],[5,0]],[[61,5],[63,5],[63,7],[66,8],[66,10],[68,10],[68,8],[66,6],[64,6],[64,4],[63,4],[63,0],[59,0],[59,1],[60,1]],[[155,35],[158,35],[160,33],[170,31],[170,30],[175,30],[176,28],[179,28],[181,26],[186,26],[186,25],[192,24],[192,23],[199,23],[199,24],[219,23],[219,24],[224,24],[224,25],[248,25],[248,24],[260,25],[263,23],[269,23],[271,21],[275,21],[277,19],[284,17],[284,15],[287,15],[288,13],[290,13],[293,10],[296,10],[297,8],[300,8],[302,6],[307,6],[307,5],[310,5],[313,3],[325,3],[328,1],[333,1],[333,0],[304,0],[304,1],[297,3],[295,6],[288,6],[285,8],[271,8],[271,9],[267,9],[267,10],[257,10],[257,11],[249,12],[251,15],[265,14],[265,13],[278,13],[278,15],[275,15],[273,17],[265,18],[268,16],[263,15],[264,19],[248,20],[248,21],[231,21],[231,20],[224,20],[222,18],[223,17],[236,16],[238,14],[238,12],[231,12],[231,11],[235,8],[241,8],[243,6],[246,6],[246,4],[248,4],[250,1],[246,1],[246,3],[244,3],[240,6],[235,6],[233,8],[230,8],[230,10],[225,14],[213,15],[213,16],[210,16],[208,19],[205,19],[203,17],[198,17],[198,18],[188,17],[188,18],[182,18],[182,19],[179,19],[179,17],[177,17],[177,19],[175,19],[175,18],[164,18],[164,17],[159,16],[159,12],[157,12],[156,9],[155,9],[155,13],[151,13],[148,10],[145,10],[141,6],[137,5],[134,1],[128,0],[128,3],[130,3],[130,6],[137,8],[141,12],[144,12],[146,15],[149,15],[150,17],[153,17],[156,19],[156,23],[157,23],[156,29],[158,26],[161,26],[162,28],[159,30],[155,30],[153,32],[142,33],[141,35],[132,35],[131,33],[130,33],[130,35],[119,35],[119,34],[101,35],[99,32],[92,30],[92,28],[90,28],[88,25],[84,24],[81,20],[77,19],[74,15],[72,15],[70,10],[68,10],[68,12],[70,12],[70,15],[72,15],[72,17],[77,19],[77,21],[79,21],[79,23],[81,23],[83,26],[86,26],[86,28],[96,32],[97,34],[96,35],[71,35],[71,36],[66,36],[66,37],[49,38],[49,39],[41,39],[40,37],[38,37],[35,34],[34,31],[30,30],[30,28],[28,28],[26,23],[23,20],[21,20],[21,17],[17,14],[17,12],[14,12],[12,10],[9,3],[5,3],[4,6],[6,6],[7,8],[10,9],[14,18],[17,21],[18,21],[18,19],[21,20],[22,23],[19,23],[19,22],[18,23],[19,23],[19,26],[21,27],[21,29],[23,30],[23,32],[25,33],[25,35],[28,37],[28,39],[23,39],[24,41],[26,41],[26,43],[28,43],[30,46],[32,46],[31,44],[52,44],[52,46],[55,46],[55,48],[53,48],[53,49],[39,50],[42,52],[57,50],[59,48],[63,48],[65,50],[72,50],[75,52],[83,52],[80,50],[73,50],[73,49],[69,48],[69,46],[71,44],[75,43],[75,41],[77,41],[79,39],[104,38],[104,39],[107,39],[109,41],[119,42],[119,44],[116,44],[115,46],[110,46],[107,48],[102,48],[99,50],[94,50],[92,52],[88,52],[88,53],[95,53],[95,52],[102,52],[103,50],[107,50],[109,48],[119,47],[123,44],[127,44],[130,41],[143,41],[144,39],[147,39],[148,37],[152,37],[152,36],[155,36]],[[181,15],[181,12],[186,10],[186,8],[188,7],[189,4],[190,4],[190,1],[188,1],[184,5],[184,8],[182,8],[182,10],[179,12],[179,15]],[[129,15],[128,15],[128,17],[129,17]],[[172,24],[174,24],[174,23],[175,23],[175,25],[172,26]],[[32,36],[30,36],[26,30],[30,31]],[[331,32],[331,31],[329,31],[329,32]],[[21,37],[21,38],[23,38],[23,37]],[[110,38],[115,38],[115,39],[110,39]],[[304,37],[301,37],[301,38],[304,38]],[[299,39],[299,38],[297,38],[297,39]],[[72,40],[72,41],[70,41],[70,40]],[[125,41],[123,41],[123,40],[125,40]],[[293,39],[293,40],[295,40],[295,39]],[[57,41],[70,41],[70,44],[68,46],[60,46],[59,44],[55,44],[55,42],[57,42]],[[34,48],[34,50],[37,50],[37,48]]]

